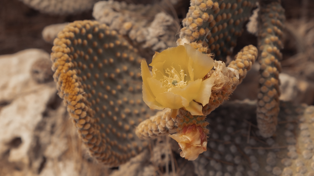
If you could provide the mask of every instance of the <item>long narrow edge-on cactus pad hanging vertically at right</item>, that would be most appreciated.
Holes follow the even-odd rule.
[[[282,29],[284,9],[279,2],[260,4],[258,48],[260,50],[261,65],[259,78],[260,90],[257,96],[257,123],[260,133],[267,138],[276,131],[279,113],[279,60],[283,48]]]

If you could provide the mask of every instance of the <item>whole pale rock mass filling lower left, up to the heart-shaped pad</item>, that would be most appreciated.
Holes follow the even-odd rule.
[[[55,83],[32,78],[34,62],[49,57],[39,49],[0,56],[0,175],[108,175],[88,156]]]

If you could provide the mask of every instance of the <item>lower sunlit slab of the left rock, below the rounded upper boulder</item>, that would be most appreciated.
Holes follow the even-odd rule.
[[[30,149],[33,131],[43,118],[42,113],[54,94],[56,94],[56,88],[46,85],[38,91],[20,95],[11,104],[1,109],[0,153],[8,149],[5,144],[14,140],[14,138],[21,138],[22,140],[18,148],[10,150],[10,162],[22,161],[29,163],[27,152]]]

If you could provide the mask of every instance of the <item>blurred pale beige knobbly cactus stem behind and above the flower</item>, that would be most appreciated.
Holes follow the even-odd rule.
[[[176,46],[176,34],[180,28],[179,23],[159,5],[100,1],[95,3],[93,16],[100,23],[128,36],[151,57],[153,51],[161,52]]]

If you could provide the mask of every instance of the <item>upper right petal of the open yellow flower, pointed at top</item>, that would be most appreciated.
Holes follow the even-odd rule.
[[[194,79],[204,78],[204,76],[213,68],[214,60],[203,54],[189,44],[184,44],[189,59],[193,60]]]

